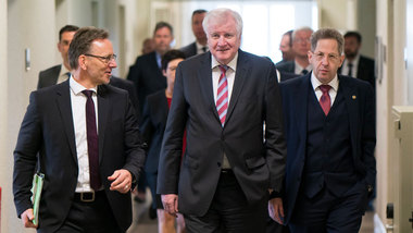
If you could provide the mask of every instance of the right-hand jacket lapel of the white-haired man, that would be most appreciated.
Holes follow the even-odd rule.
[[[248,57],[241,50],[238,50],[237,71],[235,73],[233,93],[230,96],[230,101],[228,106],[228,111],[226,113],[225,123],[229,121],[230,115],[234,112],[234,108],[237,105],[239,94],[241,93],[246,76],[248,75],[251,66],[250,66],[250,63],[248,62]]]

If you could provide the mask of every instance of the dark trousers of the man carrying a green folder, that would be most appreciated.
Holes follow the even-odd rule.
[[[75,198],[59,233],[121,233],[104,191],[96,193],[95,201]]]

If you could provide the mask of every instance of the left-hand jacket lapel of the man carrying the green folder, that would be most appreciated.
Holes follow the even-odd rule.
[[[57,105],[60,111],[60,116],[63,120],[64,132],[66,134],[67,143],[71,148],[71,154],[73,159],[77,163],[77,152],[75,143],[75,132],[73,126],[73,114],[72,114],[72,102],[71,102],[71,89],[68,85],[68,79],[59,85],[57,89]]]

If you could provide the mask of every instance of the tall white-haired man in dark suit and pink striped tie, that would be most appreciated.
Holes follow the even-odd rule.
[[[210,11],[203,28],[210,52],[176,71],[158,193],[167,212],[184,213],[188,232],[264,232],[268,189],[281,192],[286,155],[274,64],[239,49],[235,11]]]

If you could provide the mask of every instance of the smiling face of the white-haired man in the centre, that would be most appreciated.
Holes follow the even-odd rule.
[[[221,21],[211,20],[206,37],[212,56],[221,64],[228,64],[241,45],[241,34],[237,33],[236,22],[229,14]]]

